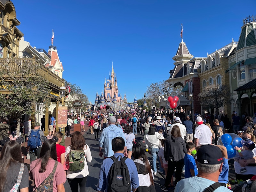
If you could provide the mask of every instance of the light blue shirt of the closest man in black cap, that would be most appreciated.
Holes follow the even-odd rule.
[[[189,177],[187,179],[180,180],[174,192],[202,192],[205,188],[209,187],[215,183],[215,181],[205,179],[202,177]],[[214,192],[230,192],[230,189],[220,186],[219,188],[215,189]]]

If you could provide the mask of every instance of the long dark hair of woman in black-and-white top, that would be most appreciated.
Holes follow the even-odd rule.
[[[134,157],[134,160],[135,159],[140,159],[140,160],[142,159],[143,163],[145,164],[146,169],[149,172],[150,181],[151,181],[152,185],[154,185],[153,175],[152,175],[152,172],[151,172],[151,166],[148,162],[148,158],[147,158],[147,156],[145,154],[145,151],[142,148],[142,146],[138,143],[135,144],[135,146],[132,148],[132,153],[133,153],[132,156]],[[145,172],[146,172],[146,170],[145,170]]]

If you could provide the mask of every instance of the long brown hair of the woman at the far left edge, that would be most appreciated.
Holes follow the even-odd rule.
[[[10,140],[5,143],[0,156],[0,191],[4,191],[6,186],[6,174],[11,163],[22,163],[20,144]],[[25,167],[26,168],[26,167]]]

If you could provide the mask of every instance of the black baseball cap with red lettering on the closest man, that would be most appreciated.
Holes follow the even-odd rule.
[[[197,151],[196,160],[202,164],[216,165],[223,162],[223,156],[217,146],[202,145]]]

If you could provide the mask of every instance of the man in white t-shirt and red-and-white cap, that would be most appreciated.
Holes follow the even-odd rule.
[[[196,130],[194,134],[194,143],[198,145],[207,145],[212,143],[212,132],[210,128],[203,123],[202,117],[196,117]]]

